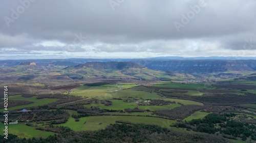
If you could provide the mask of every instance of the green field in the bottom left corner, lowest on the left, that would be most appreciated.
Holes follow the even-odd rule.
[[[1,128],[1,134],[4,133],[4,124],[0,124]],[[49,135],[54,135],[53,132],[47,132],[47,131],[41,131],[36,130],[34,127],[27,126],[25,124],[15,124],[15,125],[8,125],[8,133],[9,134],[15,134],[19,137],[26,137],[26,138],[32,138],[32,137],[48,137]]]

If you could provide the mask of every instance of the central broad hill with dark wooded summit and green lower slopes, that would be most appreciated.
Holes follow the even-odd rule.
[[[146,67],[132,62],[90,62],[76,66],[66,67],[61,70],[71,78],[77,77],[98,77],[115,79],[172,79],[181,74],[170,74],[163,71],[147,69]],[[76,75],[76,76],[74,76]],[[193,76],[189,77],[195,78]]]

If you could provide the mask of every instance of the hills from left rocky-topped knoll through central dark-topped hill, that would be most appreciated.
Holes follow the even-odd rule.
[[[54,62],[53,62],[54,63]],[[63,62],[60,62],[63,64]],[[60,64],[58,63],[58,64]],[[67,62],[70,64],[70,62]],[[86,78],[118,80],[194,80],[197,77],[148,69],[133,62],[90,62],[75,66],[38,66],[35,62],[0,68],[0,80],[81,80]],[[201,79],[199,77],[198,79]]]

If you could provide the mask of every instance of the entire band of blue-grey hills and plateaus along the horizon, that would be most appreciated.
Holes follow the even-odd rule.
[[[131,69],[152,69],[163,72],[186,73],[192,75],[214,74],[221,77],[237,77],[256,73],[256,60],[250,57],[201,57],[182,58],[180,56],[157,57],[148,59],[45,59],[45,60],[5,60],[0,61],[0,72],[5,73],[15,66],[36,66],[38,71],[49,69],[63,69],[65,73],[90,73],[104,76],[115,71],[116,75],[133,75]],[[187,60],[190,59],[190,60]],[[194,59],[194,60],[191,60]],[[197,59],[197,60],[196,60]],[[206,60],[207,59],[207,60]],[[210,60],[215,59],[215,60]],[[218,59],[218,60],[216,60]],[[222,59],[222,60],[221,60]],[[243,59],[243,60],[236,60]],[[13,67],[13,68],[8,68]],[[89,70],[90,69],[90,70]],[[15,70],[14,70],[15,71]],[[119,73],[117,71],[120,71]],[[126,72],[127,71],[127,72]],[[136,70],[133,70],[134,72]],[[126,72],[126,73],[125,73]],[[137,71],[139,74],[140,71]],[[146,70],[143,71],[146,74]],[[33,72],[31,72],[33,73]],[[128,74],[127,74],[128,73]],[[220,74],[225,73],[225,74]],[[228,74],[227,74],[228,73]],[[143,75],[145,76],[145,75]],[[151,75],[153,76],[153,75]],[[110,77],[110,75],[108,75]],[[132,77],[132,76],[130,76]],[[141,76],[136,76],[141,77]],[[154,76],[153,76],[154,77]]]

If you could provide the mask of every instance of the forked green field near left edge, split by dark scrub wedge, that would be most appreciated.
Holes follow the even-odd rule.
[[[23,108],[26,108],[26,107],[46,105],[46,104],[55,102],[55,101],[57,101],[59,99],[56,99],[56,98],[36,99],[36,96],[30,97],[30,98],[26,98],[26,97],[22,97],[22,95],[15,95],[15,96],[9,96],[8,100],[23,100],[23,101],[34,102],[34,103],[31,103],[31,104],[27,104],[27,105],[8,107],[8,110],[16,110],[16,109],[23,109]],[[4,111],[4,109],[0,109],[0,111]]]

